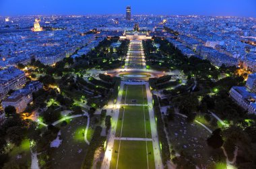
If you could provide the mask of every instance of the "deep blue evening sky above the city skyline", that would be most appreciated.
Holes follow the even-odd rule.
[[[256,0],[0,0],[0,15],[121,14],[256,17]]]

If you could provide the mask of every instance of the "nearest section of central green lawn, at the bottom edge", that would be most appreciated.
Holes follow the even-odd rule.
[[[120,150],[119,150],[119,143]],[[146,151],[146,144],[148,154]],[[119,154],[119,162],[117,158]],[[148,162],[147,162],[148,155]],[[115,140],[110,168],[155,168],[152,142]]]

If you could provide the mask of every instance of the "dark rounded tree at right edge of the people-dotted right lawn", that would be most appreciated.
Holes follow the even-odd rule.
[[[212,135],[210,135],[210,137],[207,138],[207,145],[214,149],[220,148],[224,143],[222,139],[222,135],[220,133],[221,133],[220,128],[214,130],[212,132]]]

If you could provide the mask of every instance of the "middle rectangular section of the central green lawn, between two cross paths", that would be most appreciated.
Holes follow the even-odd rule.
[[[125,113],[123,113],[125,109]],[[124,114],[124,118],[123,118]],[[146,134],[145,135],[145,121],[146,121]],[[121,135],[121,128],[123,122],[123,130]],[[117,137],[141,137],[141,138],[151,138],[150,129],[150,117],[148,113],[148,107],[144,106],[123,106],[119,111],[119,119],[117,122]]]

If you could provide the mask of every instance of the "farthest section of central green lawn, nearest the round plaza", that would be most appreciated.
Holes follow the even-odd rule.
[[[127,90],[127,92],[126,92]],[[126,95],[126,101],[125,101]],[[135,102],[133,102],[135,100]],[[122,104],[148,104],[146,87],[144,85],[125,85],[123,87]]]

